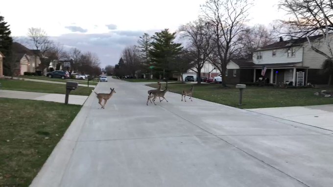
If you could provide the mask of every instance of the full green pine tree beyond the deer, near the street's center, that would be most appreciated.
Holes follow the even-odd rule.
[[[165,29],[156,32],[152,37],[154,42],[151,42],[152,47],[149,49],[149,55],[157,71],[163,71],[166,74],[172,71],[171,62],[183,49],[181,43],[173,42],[175,35],[176,33],[169,33],[169,30]]]

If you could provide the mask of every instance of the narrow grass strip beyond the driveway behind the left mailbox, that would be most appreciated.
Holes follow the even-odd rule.
[[[39,83],[32,81],[19,81],[19,80],[8,80],[8,79],[5,80],[0,79],[0,83],[2,84],[0,89],[66,94],[65,84],[50,84],[50,83]],[[92,92],[92,89],[93,88],[91,87],[78,86],[75,90],[71,91],[71,95],[89,96]]]

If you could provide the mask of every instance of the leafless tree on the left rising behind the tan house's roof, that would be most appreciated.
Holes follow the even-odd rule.
[[[39,69],[43,71],[49,65],[50,61],[47,59],[47,53],[54,49],[53,42],[41,28],[29,28],[27,36],[32,42],[32,46],[37,50],[37,56],[41,60]]]

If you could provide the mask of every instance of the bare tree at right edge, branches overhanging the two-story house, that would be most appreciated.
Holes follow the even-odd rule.
[[[333,0],[281,0],[280,8],[293,16],[293,19],[282,21],[283,26],[285,26],[282,34],[298,38],[306,37],[311,49],[327,59],[322,65],[324,72],[331,72],[328,69],[333,61],[331,46]],[[313,40],[311,37],[313,35],[321,35],[323,42],[320,44],[320,40]],[[319,49],[318,46],[323,44],[325,47],[322,50]],[[332,79],[331,73],[329,83]]]

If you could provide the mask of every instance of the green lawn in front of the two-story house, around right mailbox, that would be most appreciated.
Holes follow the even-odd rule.
[[[157,88],[157,84],[147,84]],[[171,92],[181,94],[184,89],[190,89],[191,84],[169,84]],[[333,104],[333,98],[313,95],[324,88],[274,88],[247,86],[243,90],[243,100],[240,108],[265,108],[284,106],[305,106],[318,104]],[[331,88],[332,89],[332,88]],[[181,96],[179,96],[179,100]],[[238,107],[239,89],[235,85],[222,88],[220,84],[194,84],[193,97]]]

